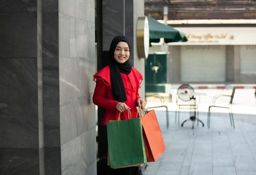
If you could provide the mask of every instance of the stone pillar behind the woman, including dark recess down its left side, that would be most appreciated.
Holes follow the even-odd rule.
[[[114,36],[125,35],[132,42],[130,61],[144,74],[144,59],[137,55],[136,30],[137,19],[144,16],[143,0],[97,0],[97,68],[107,64],[108,50]],[[144,96],[145,80],[140,88],[140,95]],[[106,127],[101,126],[105,111],[98,108],[98,174],[107,171],[107,134]]]

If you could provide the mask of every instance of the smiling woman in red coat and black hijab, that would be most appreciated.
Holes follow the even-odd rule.
[[[137,108],[145,108],[146,101],[139,95],[139,87],[143,79],[141,73],[129,61],[131,43],[123,35],[113,38],[109,48],[109,65],[95,73],[96,86],[93,102],[106,109],[102,124],[109,120],[128,119],[137,117]],[[136,174],[136,167],[112,169],[112,174]],[[134,171],[134,172],[132,172]]]

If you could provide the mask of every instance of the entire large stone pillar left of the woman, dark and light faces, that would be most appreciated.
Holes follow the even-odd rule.
[[[1,1],[0,174],[97,173],[94,7]]]

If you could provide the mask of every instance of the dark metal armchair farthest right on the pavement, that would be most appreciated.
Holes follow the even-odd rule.
[[[231,95],[217,94],[217,95],[213,96],[212,105],[209,106],[208,115],[207,115],[208,128],[210,128],[210,109],[211,109],[211,107],[227,108],[229,110],[230,124],[234,128],[234,118],[233,118],[233,113],[232,113],[232,101],[233,101],[233,97],[234,97],[234,92],[235,92],[235,87],[233,87]],[[218,99],[219,97],[230,97],[229,104],[227,106],[216,104],[216,99]]]

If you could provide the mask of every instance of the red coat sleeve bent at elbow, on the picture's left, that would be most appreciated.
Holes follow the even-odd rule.
[[[108,99],[105,97],[108,85],[106,85],[103,79],[97,79],[96,86],[93,94],[93,103],[106,109],[106,110],[116,110],[116,105],[119,101]]]

